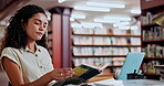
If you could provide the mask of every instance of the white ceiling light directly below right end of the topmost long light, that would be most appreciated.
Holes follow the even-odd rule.
[[[130,17],[104,17],[105,20],[131,21]]]

